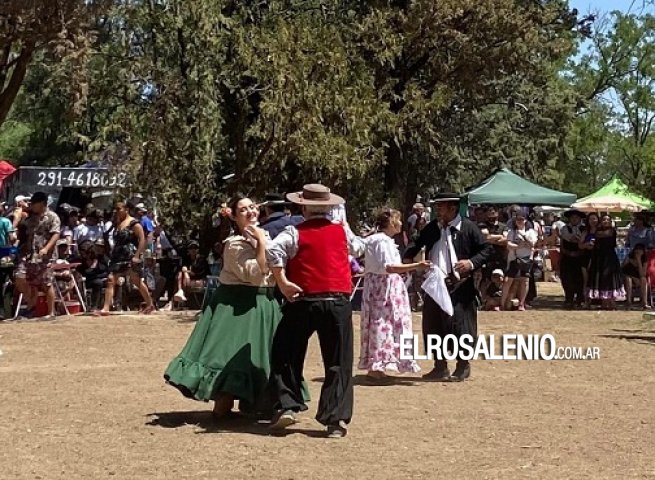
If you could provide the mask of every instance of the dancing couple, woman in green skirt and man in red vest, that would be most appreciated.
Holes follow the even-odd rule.
[[[305,185],[287,198],[305,221],[273,241],[257,227],[252,200],[230,202],[235,235],[225,242],[220,285],[164,378],[190,398],[214,400],[217,417],[228,414],[235,400],[244,412],[272,408],[272,428],[283,430],[307,410],[303,364],[317,332],[325,381],[316,419],[328,437],[341,438],[353,406],[348,254],[360,256],[364,244],[347,225],[330,219],[344,200],[327,187]],[[286,299],[283,307],[275,284]]]

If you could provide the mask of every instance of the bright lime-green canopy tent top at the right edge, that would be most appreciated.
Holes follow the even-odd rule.
[[[599,190],[578,200],[573,207],[585,212],[622,212],[652,210],[655,205],[641,195],[631,192],[630,188],[614,175]]]

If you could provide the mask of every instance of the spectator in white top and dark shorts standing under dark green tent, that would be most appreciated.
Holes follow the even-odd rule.
[[[519,311],[525,310],[528,281],[532,270],[533,248],[537,244],[537,232],[527,227],[525,214],[519,211],[514,217],[514,227],[507,234],[507,274],[503,285],[501,308],[505,309],[514,283],[518,283]]]

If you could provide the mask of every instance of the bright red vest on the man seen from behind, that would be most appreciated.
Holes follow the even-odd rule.
[[[297,227],[298,253],[287,262],[287,278],[307,295],[345,293],[352,280],[348,240],[343,226],[328,219],[306,220]]]

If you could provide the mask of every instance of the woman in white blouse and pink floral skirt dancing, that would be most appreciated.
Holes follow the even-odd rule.
[[[365,239],[364,294],[361,314],[359,367],[373,379],[387,372],[418,372],[413,360],[400,359],[400,336],[412,335],[412,312],[402,273],[428,268],[429,261],[403,264],[393,237],[402,231],[398,210],[385,209],[376,220],[377,232]]]

